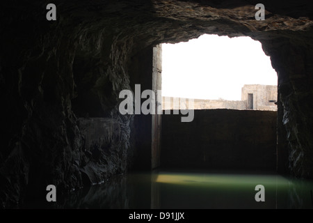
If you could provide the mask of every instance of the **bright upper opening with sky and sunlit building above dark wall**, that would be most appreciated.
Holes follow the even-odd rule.
[[[162,109],[277,111],[270,102],[277,100],[277,82],[270,57],[250,37],[204,34],[162,45]]]

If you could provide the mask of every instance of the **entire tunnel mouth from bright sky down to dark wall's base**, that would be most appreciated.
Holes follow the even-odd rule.
[[[257,42],[255,48],[247,44],[249,50],[246,51],[245,40],[256,42],[246,37],[243,38],[241,45],[236,45],[236,41],[228,43],[236,45],[241,49],[242,54],[248,55],[248,59],[247,57],[240,59],[242,56],[240,54],[238,61],[233,58],[239,48],[234,47],[229,52],[230,46],[223,42],[220,44],[224,48],[221,48],[218,43],[211,43],[209,46],[212,48],[214,45],[219,50],[214,52],[212,49],[211,53],[214,56],[208,55],[210,53],[207,52],[208,46],[204,45],[191,45],[189,47],[192,50],[188,47],[180,49],[177,47],[175,48],[178,49],[177,52],[169,52],[167,55],[164,53],[166,45],[162,45],[162,109],[170,109],[171,112],[169,115],[163,113],[161,116],[161,157],[159,158],[161,168],[276,171],[277,106],[273,102],[277,101],[278,96],[277,74],[271,67],[268,56],[264,54],[261,44]],[[174,48],[174,45],[171,47]],[[195,49],[197,47],[198,50]],[[259,55],[255,57],[251,55],[256,49],[261,51],[259,58],[257,57]],[[198,63],[192,64],[191,68],[184,66],[188,63],[188,59],[195,58],[196,54],[201,54],[200,59],[195,59]],[[220,61],[224,67],[230,67],[229,70],[220,68],[222,63],[216,59],[219,57],[218,54],[224,55]],[[262,56],[263,60],[265,58],[263,63],[261,63]],[[205,65],[204,68],[200,67],[200,63]],[[242,67],[247,66],[246,63],[251,64],[245,70]],[[216,64],[218,64],[217,69],[209,69],[209,66]],[[255,72],[255,68],[262,68],[262,66],[266,68]],[[204,79],[197,72],[203,73],[204,77],[211,77]],[[243,72],[247,74],[240,75]],[[264,72],[268,73],[265,75]],[[172,75],[172,79],[166,75]],[[251,78],[253,75],[255,77]],[[262,85],[266,83],[273,85]],[[208,86],[214,86],[213,91],[205,92]],[[199,98],[220,98],[214,91],[225,93],[228,99],[241,98],[241,100],[195,99],[197,95]],[[186,109],[194,110],[194,118],[190,123],[182,122],[180,116],[173,112],[182,105],[180,101],[182,98],[186,100]],[[190,100],[194,101],[193,107],[190,106]]]

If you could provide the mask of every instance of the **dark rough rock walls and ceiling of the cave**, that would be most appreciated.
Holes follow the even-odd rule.
[[[154,45],[203,33],[262,43],[278,72],[278,170],[313,178],[311,1],[263,1],[264,21],[255,20],[257,1],[54,3],[56,21],[46,20],[42,1],[1,3],[1,206],[45,194],[48,184],[66,192],[127,171],[141,139],[134,116],[119,114],[118,94],[150,81],[138,79],[133,61]],[[111,138],[86,153],[79,127],[78,118],[95,117],[122,130],[111,134],[120,141],[111,140],[107,163],[102,148]],[[86,160],[99,169],[86,171]]]

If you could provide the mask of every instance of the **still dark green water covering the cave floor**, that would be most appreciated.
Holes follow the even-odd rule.
[[[255,201],[264,185],[265,201]],[[72,192],[54,208],[313,208],[313,182],[276,174],[134,172]]]

